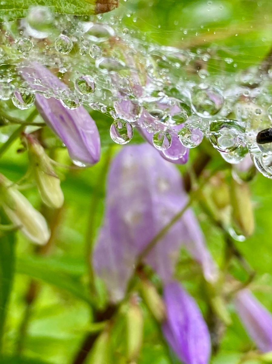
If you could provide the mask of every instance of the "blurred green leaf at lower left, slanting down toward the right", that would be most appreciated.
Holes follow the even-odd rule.
[[[66,272],[56,269],[54,261],[50,264],[49,260],[42,257],[20,257],[16,261],[16,273],[27,274],[91,304],[91,298],[85,292],[84,286]]]

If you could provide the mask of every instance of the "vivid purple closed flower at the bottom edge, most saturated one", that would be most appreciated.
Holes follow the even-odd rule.
[[[207,324],[195,300],[172,281],[164,288],[167,319],[163,333],[169,345],[185,364],[207,364],[211,342]]]

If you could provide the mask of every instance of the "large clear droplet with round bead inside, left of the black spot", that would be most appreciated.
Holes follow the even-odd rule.
[[[221,153],[233,152],[240,147],[244,132],[242,123],[236,120],[218,119],[209,125],[210,142]]]

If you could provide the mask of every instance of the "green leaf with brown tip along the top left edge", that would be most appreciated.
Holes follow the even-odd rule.
[[[3,0],[1,1],[0,21],[25,17],[28,9],[35,5],[45,5],[52,12],[73,15],[91,15],[111,11],[118,6],[116,0],[109,0],[104,7],[99,7],[100,2],[100,0]]]

